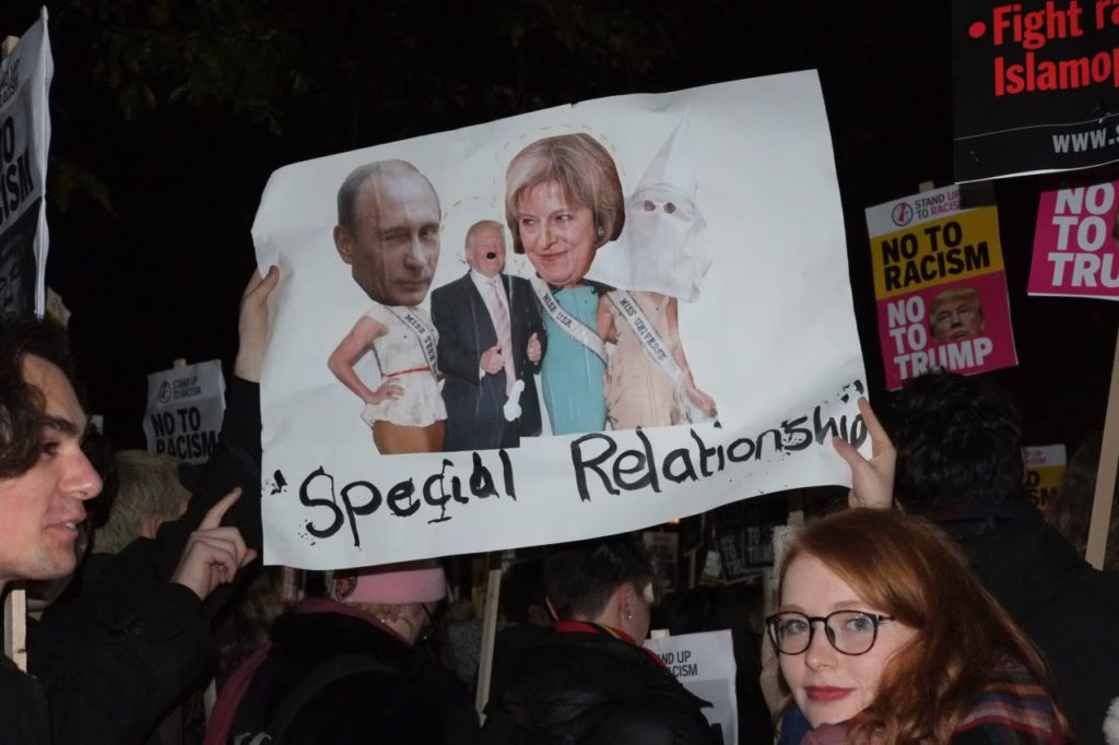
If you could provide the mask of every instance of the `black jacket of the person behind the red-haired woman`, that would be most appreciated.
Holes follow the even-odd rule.
[[[1076,742],[1103,745],[1103,718],[1119,698],[1119,575],[1092,568],[1025,500],[933,517],[1045,653]]]

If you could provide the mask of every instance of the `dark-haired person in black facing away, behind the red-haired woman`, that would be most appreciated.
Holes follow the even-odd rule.
[[[1076,742],[1103,745],[1119,699],[1119,575],[1087,564],[1025,493],[1021,415],[982,376],[930,372],[894,397],[894,497],[951,535],[1042,649]]]

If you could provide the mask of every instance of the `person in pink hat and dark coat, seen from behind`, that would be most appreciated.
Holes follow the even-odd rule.
[[[336,573],[329,594],[276,619],[271,647],[220,691],[205,742],[472,745],[466,687],[420,644],[446,594],[439,563]]]

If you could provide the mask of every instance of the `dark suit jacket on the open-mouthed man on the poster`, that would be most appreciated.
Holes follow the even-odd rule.
[[[502,413],[505,370],[478,377],[482,352],[497,343],[497,331],[486,301],[468,272],[431,295],[432,320],[439,329],[439,369],[444,376],[445,451],[515,446],[520,436],[540,433],[540,407],[533,377],[539,370],[539,362],[530,362],[526,349],[528,338],[535,333],[542,351],[546,351],[544,321],[528,281],[506,274],[500,276],[509,309],[513,366],[517,377],[525,381],[520,418],[507,423]]]

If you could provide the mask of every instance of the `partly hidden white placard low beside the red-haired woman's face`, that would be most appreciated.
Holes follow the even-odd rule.
[[[734,641],[728,630],[705,631],[645,641],[665,667],[689,691],[711,704],[703,709],[707,722],[718,725],[723,743],[739,742],[739,699],[734,692]]]

